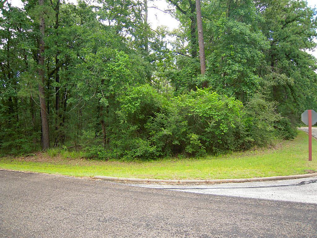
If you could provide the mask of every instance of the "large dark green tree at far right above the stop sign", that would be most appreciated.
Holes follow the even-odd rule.
[[[317,62],[305,52],[316,47],[316,9],[294,0],[257,1],[256,7],[269,41],[266,65],[260,71],[269,99],[279,103],[283,116],[299,122],[302,111],[317,106]]]

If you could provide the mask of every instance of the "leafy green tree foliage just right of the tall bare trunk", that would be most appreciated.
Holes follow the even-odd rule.
[[[257,68],[268,49],[258,26],[262,18],[251,0],[212,1],[206,10],[212,17],[206,31],[210,39],[206,52],[210,85],[246,102],[259,88]]]

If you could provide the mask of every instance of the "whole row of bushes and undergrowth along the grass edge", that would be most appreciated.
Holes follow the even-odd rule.
[[[109,143],[92,146],[88,157],[150,160],[169,155],[224,153],[265,146],[289,130],[275,102],[256,94],[245,106],[210,89],[169,99],[150,85],[130,88],[117,98],[116,121],[106,129]],[[286,122],[285,122],[286,123]]]

